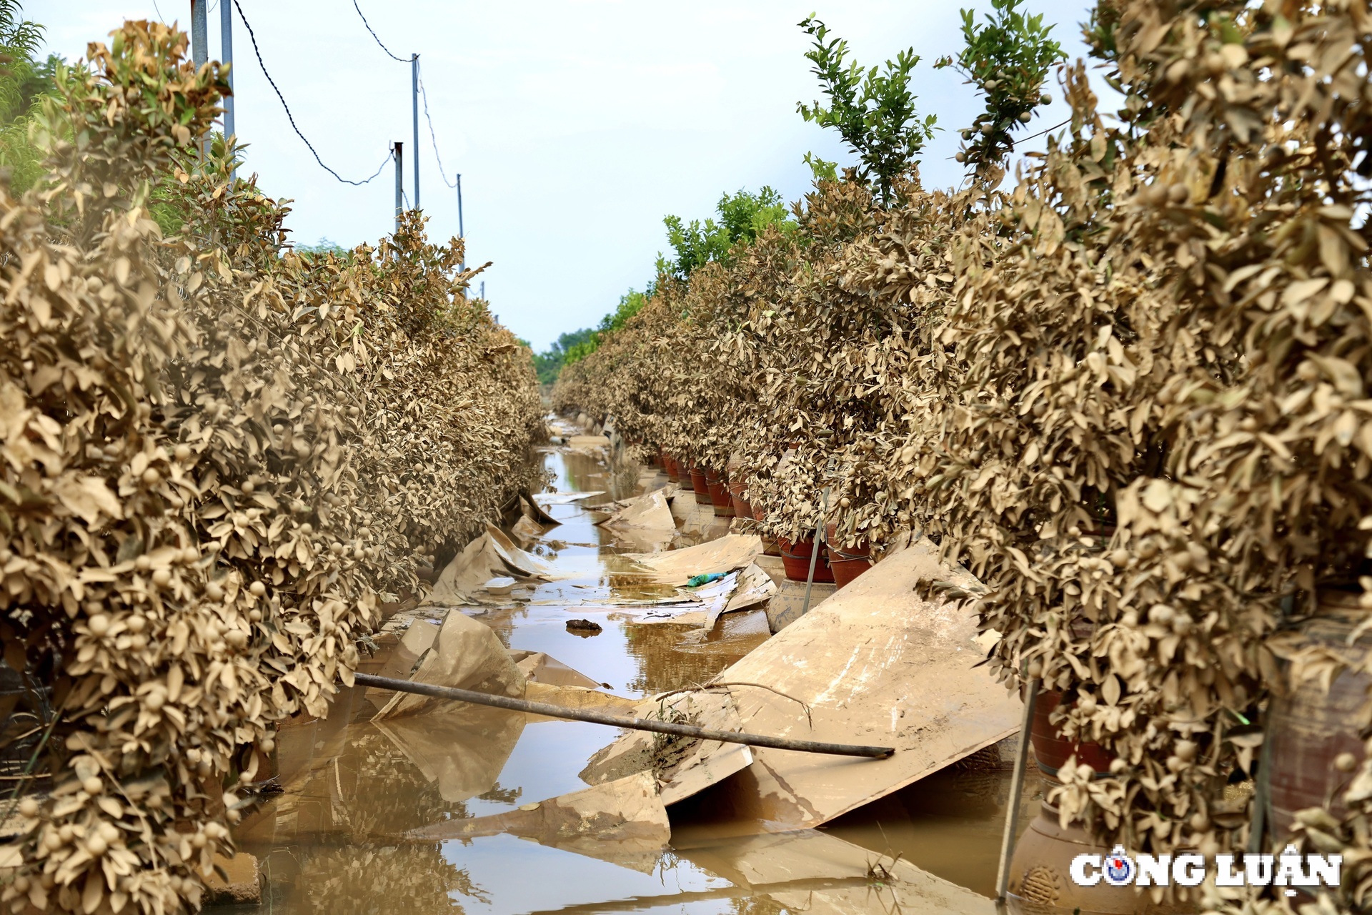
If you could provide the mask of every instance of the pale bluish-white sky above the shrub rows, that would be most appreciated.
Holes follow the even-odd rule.
[[[220,10],[211,0],[210,56],[220,59]],[[413,202],[410,67],[386,56],[351,0],[239,0],[262,58],[295,121],[324,162],[365,178],[405,143]],[[469,265],[484,278],[501,321],[543,350],[558,333],[590,326],[630,287],[652,280],[667,248],[663,215],[713,215],[723,192],[770,184],[788,200],[809,187],[807,151],[851,163],[837,134],[805,123],[796,103],[819,97],[796,23],[815,11],[870,66],[914,47],[922,114],[944,128],[926,148],[926,185],[962,177],[956,132],[981,104],[936,58],[960,48],[958,3],[884,0],[358,0],[377,36],[401,56],[420,55],[429,114],[447,180],[462,173]],[[970,4],[989,8],[986,0]],[[1028,0],[1055,22],[1069,55],[1084,54],[1078,23],[1088,0]],[[161,7],[161,8],[158,8]],[[69,60],[122,19],[173,19],[189,29],[189,0],[29,0],[48,47]],[[978,14],[980,15],[980,14]],[[246,171],[263,192],[294,200],[294,240],[327,236],[344,247],[375,241],[394,224],[394,173],[339,184],[291,132],[235,18],[237,134]],[[1062,91],[1029,126],[1066,118]],[[1041,140],[1026,145],[1039,147]],[[420,203],[431,236],[457,235],[457,195],[439,176],[420,112]]]

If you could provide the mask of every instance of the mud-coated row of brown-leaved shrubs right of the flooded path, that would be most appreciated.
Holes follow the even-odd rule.
[[[962,562],[980,586],[923,587],[999,635],[989,669],[1077,748],[1063,826],[1342,855],[1318,911],[1365,911],[1372,18],[1104,0],[1085,37],[1072,121],[1017,174],[1003,128],[1047,63],[967,54],[988,110],[963,189],[816,181],[794,221],[664,272],[554,406],[801,576],[816,539],[840,580],[910,534]]]

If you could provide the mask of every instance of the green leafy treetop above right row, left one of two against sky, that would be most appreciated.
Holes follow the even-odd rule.
[[[856,60],[845,62],[847,41],[826,41],[829,29],[814,14],[801,21],[800,27],[815,38],[805,56],[815,64],[811,73],[819,77],[829,106],[799,102],[796,110],[805,121],[838,130],[844,143],[858,154],[862,163],[858,174],[889,206],[893,180],[916,165],[916,156],[934,132],[934,115],[921,121],[910,91],[910,75],[919,56],[914,48],[907,48],[896,55],[895,62],[886,60],[885,70],[864,70]],[[812,156],[805,156],[805,162],[816,177],[834,174],[829,162]]]

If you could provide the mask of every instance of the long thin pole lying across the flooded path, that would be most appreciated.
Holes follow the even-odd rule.
[[[823,744],[820,741],[793,741],[786,737],[763,737],[761,734],[744,734],[741,731],[716,731],[712,727],[696,727],[694,724],[676,724],[674,722],[654,722],[649,717],[626,717],[609,715],[608,712],[593,712],[582,708],[565,708],[549,702],[530,702],[508,696],[491,696],[490,693],[476,693],[473,690],[460,690],[451,686],[434,686],[431,683],[416,683],[413,680],[397,680],[390,676],[376,676],[375,674],[354,674],[353,679],[362,686],[375,686],[383,690],[397,690],[399,693],[414,693],[416,696],[431,696],[440,700],[457,700],[473,705],[490,705],[493,708],[506,708],[512,712],[530,712],[546,717],[564,717],[572,722],[590,722],[593,724],[609,724],[611,727],[627,727],[632,731],[656,731],[657,734],[676,734],[678,737],[698,737],[705,741],[719,741],[722,744],[746,744],[748,746],[770,746],[778,750],[800,750],[801,753],[829,753],[833,756],[866,756],[870,759],[885,759],[896,752],[893,746],[853,746],[851,744]]]

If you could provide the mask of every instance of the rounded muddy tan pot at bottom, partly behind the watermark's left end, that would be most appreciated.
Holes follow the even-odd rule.
[[[1015,853],[1010,859],[1007,908],[1025,915],[1066,915],[1074,911],[1132,915],[1155,911],[1151,900],[1133,886],[1110,886],[1104,881],[1095,886],[1078,886],[1073,882],[1072,860],[1077,855],[1103,857],[1109,852],[1109,848],[1092,841],[1084,827],[1076,823],[1066,829],[1058,826],[1058,811],[1050,804],[1040,804],[1039,815],[1015,842]]]

